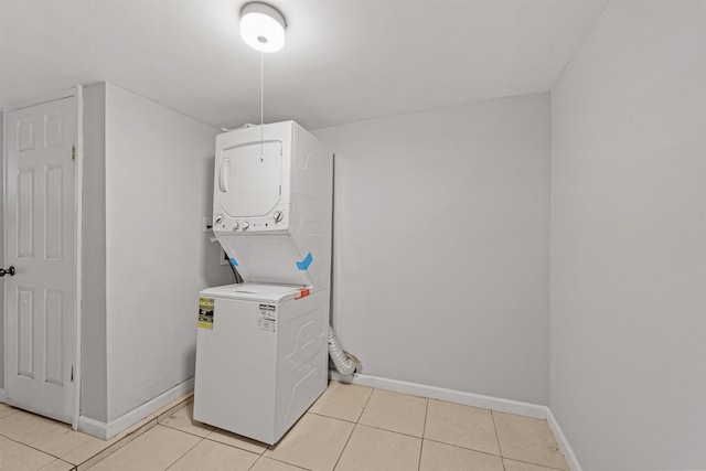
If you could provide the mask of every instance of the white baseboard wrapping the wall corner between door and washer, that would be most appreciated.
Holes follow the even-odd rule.
[[[162,407],[169,405],[173,400],[183,396],[194,388],[194,378],[189,378],[185,382],[178,384],[171,389],[160,394],[159,396],[148,400],[141,406],[124,414],[117,419],[110,422],[103,422],[92,419],[89,417],[78,417],[78,430],[103,440],[108,440],[121,431],[128,429],[135,424],[139,422],[152,413],[158,411]]]

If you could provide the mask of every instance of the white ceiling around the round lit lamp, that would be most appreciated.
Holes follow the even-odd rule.
[[[265,121],[314,129],[548,90],[609,0],[271,0]],[[217,127],[259,122],[242,0],[0,0],[0,105],[108,81]]]

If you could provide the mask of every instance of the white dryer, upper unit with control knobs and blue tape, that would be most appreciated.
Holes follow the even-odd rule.
[[[331,285],[333,152],[295,121],[216,137],[213,232],[253,282]]]

